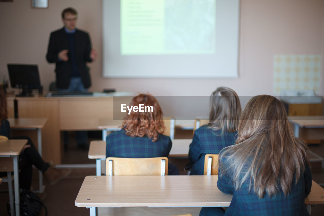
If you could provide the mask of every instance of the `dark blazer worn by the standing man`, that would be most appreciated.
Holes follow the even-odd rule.
[[[53,31],[48,44],[46,59],[49,63],[56,63],[56,86],[57,88],[67,89],[70,85],[72,63],[71,56],[67,53],[67,62],[59,61],[58,53],[62,50],[69,50],[68,36],[64,28]],[[91,43],[87,32],[75,29],[75,51],[78,71],[85,88],[91,86],[89,68],[86,62],[91,62],[90,51]]]

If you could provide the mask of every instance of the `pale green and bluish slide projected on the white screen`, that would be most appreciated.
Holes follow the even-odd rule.
[[[121,55],[214,54],[216,0],[121,0]]]

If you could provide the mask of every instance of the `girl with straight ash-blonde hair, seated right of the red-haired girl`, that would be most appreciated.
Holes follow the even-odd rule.
[[[223,148],[234,145],[241,112],[234,90],[219,87],[212,93],[209,123],[195,130],[189,147],[190,175],[203,175],[206,154],[218,154]]]

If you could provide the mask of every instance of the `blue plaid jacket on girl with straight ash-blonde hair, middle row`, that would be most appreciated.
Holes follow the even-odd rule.
[[[193,164],[190,175],[203,175],[206,154],[218,154],[227,146],[234,145],[237,132],[215,131],[203,125],[195,130],[189,147],[189,161]]]

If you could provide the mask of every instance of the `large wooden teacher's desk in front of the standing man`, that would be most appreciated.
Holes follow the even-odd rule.
[[[130,93],[98,93],[93,96],[75,97],[16,97],[7,98],[8,117],[14,117],[14,99],[17,100],[19,118],[47,118],[42,128],[42,157],[45,161],[61,163],[60,131],[98,130],[98,119],[113,119],[113,102],[121,100]]]

